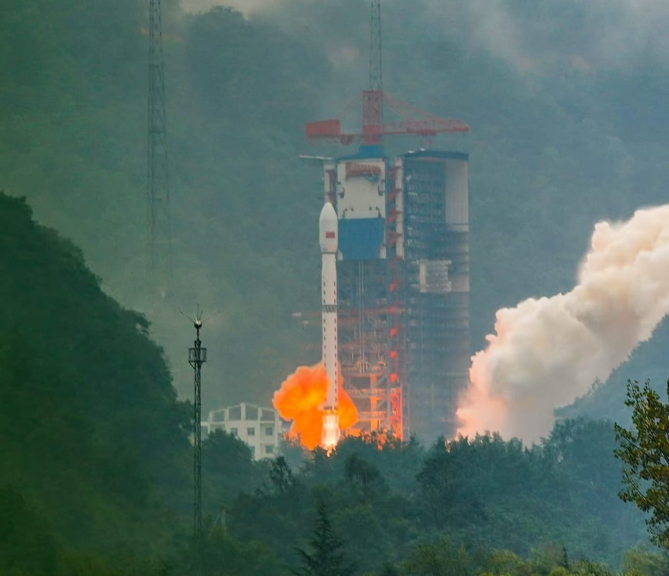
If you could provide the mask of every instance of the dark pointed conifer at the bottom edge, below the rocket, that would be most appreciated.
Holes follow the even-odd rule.
[[[302,567],[293,573],[297,576],[352,576],[355,567],[343,553],[344,543],[332,530],[322,500],[318,502],[316,513],[314,534],[309,539],[312,553],[297,550]]]

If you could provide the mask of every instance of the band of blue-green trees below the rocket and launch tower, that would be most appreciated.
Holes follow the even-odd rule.
[[[294,565],[294,535],[308,534],[323,500],[362,573],[403,562],[412,573],[409,559],[440,538],[454,556],[461,545],[473,556],[506,549],[522,557],[565,547],[573,560],[617,566],[621,545],[644,536],[638,511],[615,496],[614,445],[610,423],[575,421],[532,449],[490,436],[428,450],[347,439],[332,457],[316,452],[299,474],[276,461],[272,482],[231,506],[230,531],[270,544]]]

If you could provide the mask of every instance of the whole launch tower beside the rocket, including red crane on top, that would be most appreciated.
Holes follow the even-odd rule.
[[[380,0],[371,0],[370,44],[362,127],[305,127],[308,141],[361,143],[323,165],[324,202],[339,221],[339,362],[359,431],[430,441],[455,433],[468,383],[468,155],[421,149],[389,159],[381,139],[469,127],[383,92]],[[385,122],[385,111],[401,120]]]

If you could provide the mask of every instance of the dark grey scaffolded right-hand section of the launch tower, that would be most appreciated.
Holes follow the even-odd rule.
[[[403,156],[403,248],[411,429],[456,431],[469,369],[469,226],[465,154]]]

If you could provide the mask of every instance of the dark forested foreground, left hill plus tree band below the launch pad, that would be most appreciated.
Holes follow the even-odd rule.
[[[0,246],[0,573],[195,573],[191,412],[147,320],[24,200],[0,196]],[[657,576],[666,561],[617,498],[614,447],[611,423],[565,421],[530,448],[369,437],[254,461],[215,433],[205,569],[287,575],[302,550],[351,575]]]

